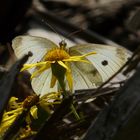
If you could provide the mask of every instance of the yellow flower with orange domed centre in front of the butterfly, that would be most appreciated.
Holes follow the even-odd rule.
[[[24,64],[21,71],[36,67],[36,70],[31,75],[31,78],[34,78],[40,75],[43,71],[51,68],[52,78],[51,78],[50,88],[53,88],[56,83],[56,80],[62,78],[63,74],[65,73],[69,88],[72,91],[73,80],[72,80],[72,72],[71,72],[69,62],[79,61],[79,62],[89,63],[89,61],[85,60],[85,57],[93,54],[96,53],[90,52],[81,56],[70,56],[67,50],[65,49],[65,46],[60,46],[60,48],[54,48],[48,51],[41,62]]]

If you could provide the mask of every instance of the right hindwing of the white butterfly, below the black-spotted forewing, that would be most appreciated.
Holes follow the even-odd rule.
[[[75,62],[71,64],[71,68],[75,90],[95,88],[101,85],[102,77],[92,64]]]

